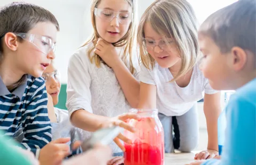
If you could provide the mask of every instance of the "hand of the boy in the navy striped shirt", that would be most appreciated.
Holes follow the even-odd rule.
[[[60,164],[70,154],[69,145],[66,144],[69,141],[69,137],[58,138],[46,144],[39,153],[40,165]]]

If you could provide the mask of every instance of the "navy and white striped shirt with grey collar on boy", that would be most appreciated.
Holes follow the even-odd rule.
[[[21,145],[38,158],[40,149],[52,138],[48,98],[41,77],[26,77],[26,82],[10,93],[0,76],[0,129],[13,137],[21,127],[25,136]]]

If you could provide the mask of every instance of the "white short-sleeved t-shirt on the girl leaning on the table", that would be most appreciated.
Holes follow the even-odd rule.
[[[173,76],[168,68],[162,68],[155,64],[153,70],[148,70],[141,65],[140,81],[146,84],[156,85],[156,108],[166,116],[181,116],[185,114],[196,101],[203,98],[203,93],[214,94],[209,81],[194,66],[189,84],[180,88],[175,82],[170,82]]]

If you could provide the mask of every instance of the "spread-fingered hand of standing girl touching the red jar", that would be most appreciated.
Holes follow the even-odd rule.
[[[124,129],[127,129],[130,132],[135,132],[135,128],[130,126],[129,124],[125,123],[127,119],[140,119],[140,117],[137,114],[134,113],[126,113],[123,115],[119,115],[116,117],[111,117],[110,119],[106,120],[104,123],[101,124],[101,128],[103,127],[111,127],[111,126],[119,126],[123,127]],[[120,147],[121,150],[125,151],[125,148],[121,141],[124,141],[125,143],[130,144],[131,140],[127,137],[125,137],[123,134],[119,134],[115,139],[114,142]]]

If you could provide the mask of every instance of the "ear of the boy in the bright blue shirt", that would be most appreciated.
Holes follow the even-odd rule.
[[[233,47],[231,49],[231,55],[233,57],[233,68],[235,71],[240,71],[244,68],[247,62],[247,54],[244,49],[240,47]]]

